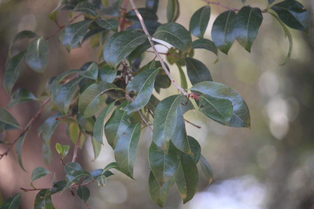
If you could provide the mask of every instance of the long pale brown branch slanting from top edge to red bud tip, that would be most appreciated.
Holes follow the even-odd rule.
[[[170,80],[171,80],[172,83],[176,86],[176,88],[177,88],[179,91],[181,91],[184,96],[187,97],[189,94],[188,94],[181,86],[179,86],[179,85],[176,83],[176,81],[175,81],[175,80],[173,79],[173,77],[171,76],[170,72],[167,70],[166,65],[165,65],[163,59],[160,57],[160,54],[159,54],[158,51],[156,50],[155,45],[154,45],[154,43],[153,43],[153,41],[152,41],[152,37],[149,35],[149,32],[148,32],[148,30],[147,30],[147,28],[146,28],[146,25],[144,24],[144,20],[143,20],[143,18],[142,18],[142,15],[138,12],[138,8],[136,7],[136,5],[135,5],[135,3],[134,3],[134,0],[129,0],[129,1],[130,1],[131,5],[132,5],[132,7],[133,7],[133,9],[134,9],[134,12],[136,13],[136,16],[138,17],[138,19],[139,19],[139,21],[140,21],[140,23],[141,23],[141,25],[142,25],[142,28],[143,28],[144,33],[148,36],[149,43],[150,43],[150,45],[152,46],[152,49],[153,49],[155,55],[156,55],[156,56],[158,57],[158,59],[160,60],[160,64],[161,64],[161,66],[162,66],[162,69],[164,69],[164,71],[166,72],[167,76],[170,78]]]

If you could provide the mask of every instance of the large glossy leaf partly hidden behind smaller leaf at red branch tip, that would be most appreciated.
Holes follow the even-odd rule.
[[[192,86],[191,91],[208,94],[211,97],[230,100],[233,105],[233,113],[229,122],[229,126],[251,128],[250,112],[246,102],[243,100],[240,94],[230,87],[221,83],[203,81]],[[219,121],[216,122],[223,124]]]

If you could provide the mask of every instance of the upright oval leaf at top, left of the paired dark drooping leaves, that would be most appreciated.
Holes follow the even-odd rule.
[[[198,9],[190,20],[190,32],[198,38],[203,38],[210,18],[210,7],[206,5]]]

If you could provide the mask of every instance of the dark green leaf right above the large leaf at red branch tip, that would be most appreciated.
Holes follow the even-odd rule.
[[[187,65],[187,76],[192,85],[202,81],[213,81],[208,68],[201,61],[186,57],[185,63]]]

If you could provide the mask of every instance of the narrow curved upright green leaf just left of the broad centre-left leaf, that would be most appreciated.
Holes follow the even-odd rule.
[[[113,107],[115,106],[115,102],[111,102],[107,107],[105,107],[100,114],[98,115],[95,125],[94,125],[94,137],[95,140],[100,143],[104,144],[102,141],[103,135],[104,135],[104,125],[105,125],[105,118],[106,116],[113,110]]]

